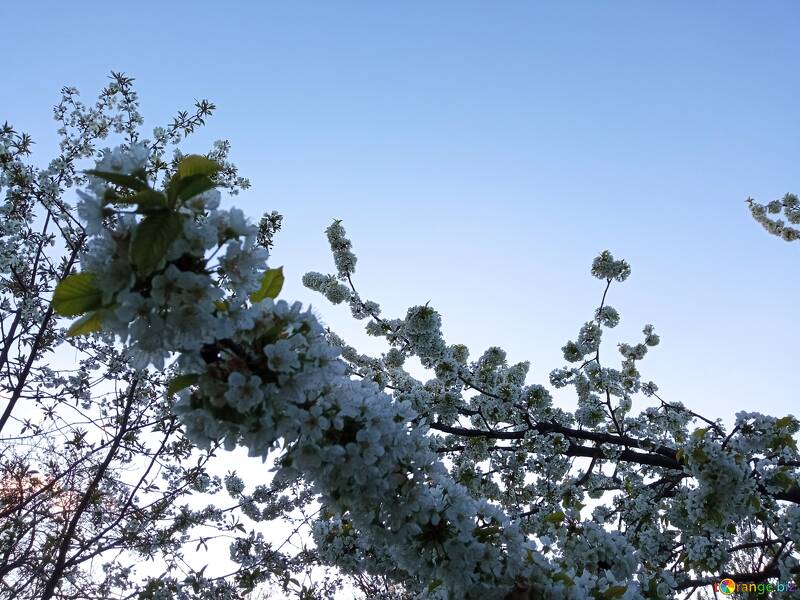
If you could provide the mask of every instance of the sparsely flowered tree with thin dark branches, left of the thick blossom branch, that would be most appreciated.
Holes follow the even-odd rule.
[[[156,128],[145,142],[148,177],[171,176],[180,155],[168,160],[166,149],[213,110],[198,102]],[[271,546],[256,530],[292,515],[299,521],[289,526],[298,526],[308,487],[278,488],[265,477],[245,488],[235,473],[225,476],[218,444],[199,451],[172,414],[168,373],[138,368],[144,363],[131,362],[112,336],[65,332],[54,312],[58,282],[102,260],[87,252],[101,233],[97,207],[87,201],[76,211],[69,194],[87,184],[81,161],[109,136],[144,147],[138,99],[121,74],[94,105],[65,88],[55,117],[60,152],[44,169],[27,163],[27,135],[0,130],[0,597],[240,597],[267,581],[281,597],[309,593],[309,553],[279,550],[280,540]],[[209,153],[220,167],[215,184],[236,193],[248,182],[227,152],[218,142]],[[105,156],[104,165],[131,164]],[[280,215],[267,215],[257,242],[268,247],[279,228]],[[230,543],[235,566],[206,575],[197,550],[218,542]]]

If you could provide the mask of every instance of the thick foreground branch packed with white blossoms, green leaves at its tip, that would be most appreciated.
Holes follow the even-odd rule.
[[[92,327],[99,321],[94,330],[123,340],[138,368],[162,368],[177,353],[175,388],[183,389],[174,411],[188,437],[203,447],[222,439],[258,456],[282,440],[289,450],[277,476],[302,475],[405,572],[460,597],[501,597],[518,580],[566,597],[563,582],[544,576],[547,563],[519,526],[449,477],[424,423],[411,425],[417,414],[409,402],[347,377],[338,350],[299,304],[259,296],[270,272],[266,251],[240,212],[220,210],[209,189],[155,210],[149,191],[120,194],[120,186],[134,185],[128,178],[142,172],[144,156],[140,148],[110,151],[91,172],[100,181],[82,195],[93,232],[76,276],[83,277],[65,280],[54,299],[62,314],[79,314],[69,302],[88,287],[92,303],[81,308],[92,312],[73,331],[85,332],[87,317]],[[137,198],[136,212],[111,208]],[[154,214],[164,226],[151,241],[171,237],[150,257],[136,243]],[[337,235],[334,229],[332,243]],[[342,269],[354,264],[346,246],[339,243]],[[415,314],[407,333],[422,341],[431,315]],[[429,341],[440,350],[435,337]],[[241,490],[234,476],[226,487]]]

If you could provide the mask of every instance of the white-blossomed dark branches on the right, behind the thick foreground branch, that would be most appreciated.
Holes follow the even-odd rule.
[[[336,226],[343,236],[341,223]],[[609,286],[626,279],[630,266],[606,251],[595,259],[592,274]],[[511,514],[530,503],[533,508],[519,520],[522,530],[542,544],[551,580],[568,582],[579,596],[671,598],[691,585],[689,573],[730,569],[734,552],[753,547],[739,532],[763,523],[771,531],[797,529],[796,510],[776,502],[797,497],[796,421],[740,416],[727,434],[719,422],[703,419],[710,426],[690,435],[689,426],[702,417],[679,402],[663,401],[658,386],[642,380],[639,363],[661,341],[652,325],[643,327],[642,341],[618,345],[620,368],[601,364],[604,329],[620,321],[605,294],[594,319],[562,349],[572,364],[550,375],[556,388],[572,386],[577,393],[577,410],[569,414],[553,406],[543,386],[526,385],[528,364],[508,364],[502,349],[489,348],[469,362],[464,346],[445,342],[432,307],[412,307],[405,319],[371,312],[351,275],[313,273],[305,280],[325,295],[319,282],[347,281],[339,301],[347,301],[354,314],[366,312],[367,332],[390,345],[375,358],[329,334],[343,349],[349,372],[391,388],[394,399],[411,402],[433,433],[450,434],[432,436],[433,443],[439,452],[455,453],[450,475],[474,498],[491,499]],[[433,379],[419,381],[403,369],[412,355],[433,371]],[[661,406],[632,415],[639,392]],[[581,441],[593,442],[599,452],[578,446]],[[593,458],[587,470],[573,475],[570,455]],[[604,466],[613,471],[604,472]],[[620,493],[611,496],[613,491]],[[582,513],[587,494],[611,504],[596,505],[590,521]],[[323,528],[327,536],[342,535],[336,523]],[[624,535],[609,533],[612,527]],[[336,547],[362,556],[364,540],[356,537],[357,530],[348,529]],[[737,540],[744,546],[737,547]],[[381,556],[374,550],[373,560]],[[786,574],[796,569],[791,550],[776,562]]]

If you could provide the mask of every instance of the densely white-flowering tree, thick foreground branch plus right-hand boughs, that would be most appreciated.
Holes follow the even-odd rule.
[[[274,221],[260,231],[219,207],[217,188],[237,187],[224,156],[177,155],[159,169],[157,139],[129,136],[87,171],[80,272],[63,271],[47,306],[77,317],[71,343],[118,349],[129,395],[169,365],[154,403],[197,448],[274,455],[272,485],[303,482],[322,505],[316,558],[368,594],[673,598],[723,577],[798,577],[800,423],[748,412],[728,429],[661,399],[639,371],[659,342],[652,325],[619,345],[618,365],[606,352],[601,362],[624,260],[594,260],[599,307],[550,375],[575,390],[568,412],[527,382],[527,363],[508,364],[497,347],[470,360],[446,342],[432,307],[384,317],[357,291],[352,244],[334,221],[335,272],[303,281],[348,303],[387,350],[348,346],[278,299],[283,273],[267,267],[263,243]],[[780,208],[797,223],[795,197]],[[774,229],[795,239],[787,228]],[[429,380],[404,369],[409,357]],[[633,414],[637,394],[651,406]],[[252,567],[265,552],[242,542],[233,554]]]

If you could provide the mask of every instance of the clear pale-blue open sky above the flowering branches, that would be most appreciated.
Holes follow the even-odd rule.
[[[450,342],[529,359],[531,382],[592,315],[608,248],[633,267],[612,340],[656,326],[642,370],[666,399],[800,412],[800,243],[744,203],[800,193],[796,2],[5,1],[0,22],[0,121],[43,162],[62,85],[91,99],[124,71],[149,126],[213,100],[188,149],[231,141],[235,202],[285,215],[284,296],[354,341],[299,283],[332,270],[333,218],[364,296],[430,300]]]

